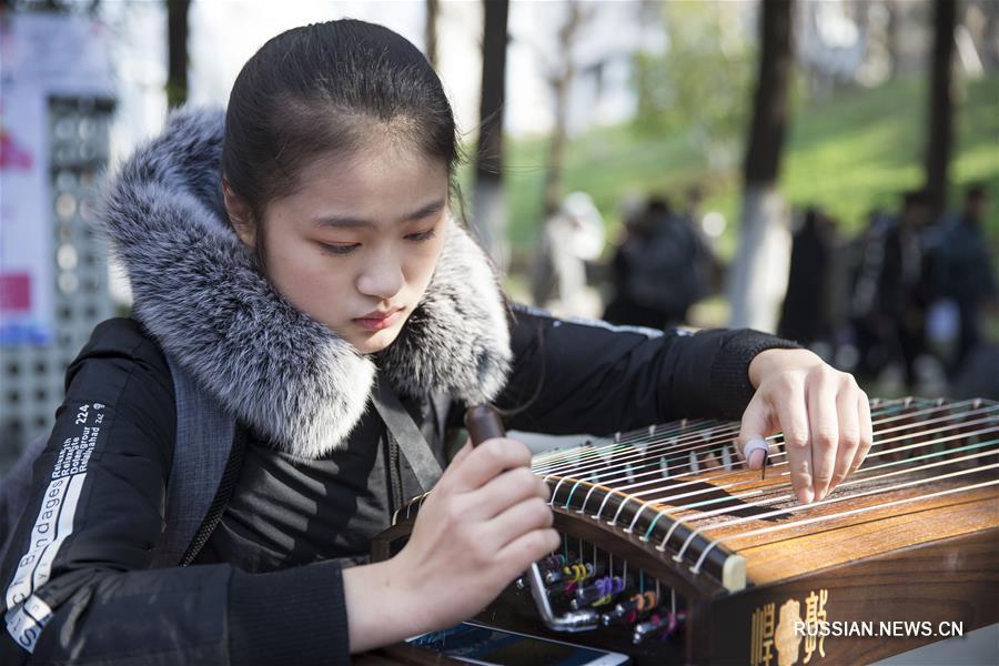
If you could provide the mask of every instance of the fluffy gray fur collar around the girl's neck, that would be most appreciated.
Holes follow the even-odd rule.
[[[100,225],[128,271],[133,314],[167,354],[281,450],[313,458],[350,435],[376,372],[402,395],[496,397],[511,363],[506,310],[492,264],[464,230],[450,225],[400,337],[364,356],[254,270],[221,204],[223,128],[220,110],[172,114],[102,199]]]

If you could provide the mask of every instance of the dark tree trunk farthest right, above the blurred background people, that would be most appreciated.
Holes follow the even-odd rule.
[[[953,29],[957,2],[934,1],[934,61],[927,125],[926,191],[935,215],[947,208],[947,172],[953,139]]]

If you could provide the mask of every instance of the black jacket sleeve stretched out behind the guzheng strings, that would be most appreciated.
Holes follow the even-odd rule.
[[[514,370],[496,405],[511,430],[609,434],[680,417],[738,418],[749,362],[793,342],[751,330],[665,333],[515,306]]]

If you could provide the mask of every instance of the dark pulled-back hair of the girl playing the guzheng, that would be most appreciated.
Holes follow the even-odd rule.
[[[294,193],[311,160],[363,150],[375,129],[441,160],[461,199],[454,114],[423,53],[392,30],[354,19],[293,28],[236,77],[222,174],[259,223],[268,202]]]

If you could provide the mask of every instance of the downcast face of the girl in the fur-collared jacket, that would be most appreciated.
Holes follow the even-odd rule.
[[[251,246],[264,234],[268,278],[278,291],[364,354],[398,335],[447,229],[446,167],[379,143],[361,155],[313,162],[294,194],[266,205],[255,231],[236,225]]]

